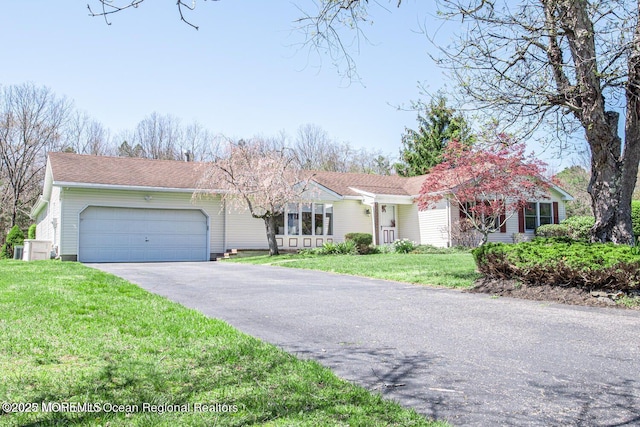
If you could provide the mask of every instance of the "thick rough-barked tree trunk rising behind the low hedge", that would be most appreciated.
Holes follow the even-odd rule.
[[[594,27],[587,3],[564,0],[562,26],[575,64],[577,85],[563,89],[585,129],[591,148],[591,181],[588,191],[595,216],[593,242],[634,244],[631,225],[631,197],[635,187],[640,149],[638,138],[638,84],[640,83],[640,27],[636,27],[630,50],[627,81],[625,144],[618,135],[619,114],[606,111],[599,81]],[[639,24],[636,24],[639,25]]]

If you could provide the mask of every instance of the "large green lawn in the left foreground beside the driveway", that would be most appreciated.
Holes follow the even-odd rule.
[[[0,402],[102,408],[0,410],[3,426],[446,425],[115,276],[55,261],[0,262]]]

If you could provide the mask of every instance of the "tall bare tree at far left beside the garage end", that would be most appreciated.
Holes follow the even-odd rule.
[[[46,153],[60,148],[71,104],[46,87],[0,89],[0,185],[3,227],[25,226],[40,194]]]

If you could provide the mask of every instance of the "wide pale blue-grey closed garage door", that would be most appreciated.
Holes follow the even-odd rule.
[[[207,218],[199,210],[90,206],[80,214],[82,262],[206,261]]]

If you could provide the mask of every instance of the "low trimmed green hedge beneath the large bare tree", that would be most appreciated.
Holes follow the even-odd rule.
[[[640,287],[640,254],[627,245],[550,238],[486,243],[472,253],[480,272],[491,278],[589,290]]]

